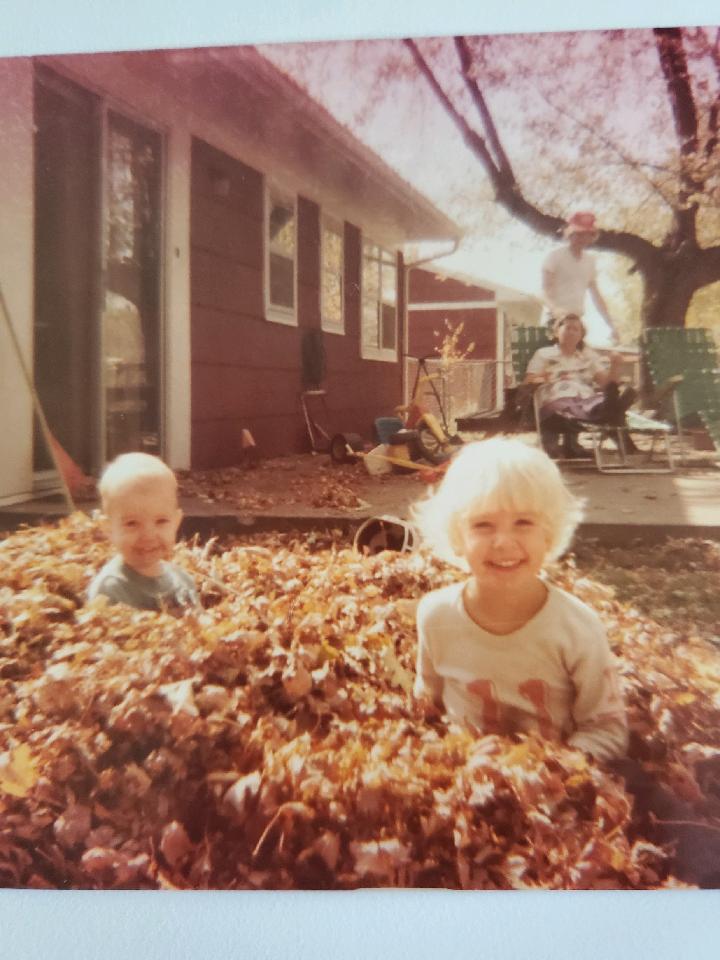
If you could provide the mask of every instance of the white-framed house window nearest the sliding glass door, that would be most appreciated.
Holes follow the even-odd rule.
[[[265,289],[267,317],[296,324],[295,262],[297,215],[295,200],[268,189],[266,203]]]

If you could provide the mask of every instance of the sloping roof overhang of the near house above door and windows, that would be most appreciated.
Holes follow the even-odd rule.
[[[426,197],[362,144],[294,80],[254,47],[129,51],[36,58],[85,84],[127,80],[123,109],[139,115],[168,95],[187,111],[187,127],[204,110],[210,141],[270,181],[318,203],[336,219],[396,248],[454,241],[462,231]],[[142,102],[137,81],[142,77]],[[132,79],[132,83],[129,82]],[[118,86],[118,84],[120,86]],[[162,96],[160,96],[162,94]],[[204,104],[204,107],[203,107]],[[207,136],[200,133],[200,136]]]

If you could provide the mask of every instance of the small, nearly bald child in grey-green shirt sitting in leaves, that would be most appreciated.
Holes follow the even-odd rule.
[[[139,610],[171,612],[197,605],[192,577],[168,562],[182,519],[172,470],[147,453],[124,453],[105,469],[99,491],[117,553],[90,584],[88,599],[102,595]]]

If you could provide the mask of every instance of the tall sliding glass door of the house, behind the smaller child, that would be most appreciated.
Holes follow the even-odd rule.
[[[97,471],[161,448],[162,140],[42,68],[35,129],[35,383]],[[37,427],[34,460],[51,468]]]

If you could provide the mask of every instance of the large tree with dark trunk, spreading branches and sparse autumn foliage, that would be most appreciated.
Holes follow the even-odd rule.
[[[596,246],[642,277],[643,323],[682,325],[720,280],[720,30],[404,43],[496,202],[553,235],[592,198]]]

